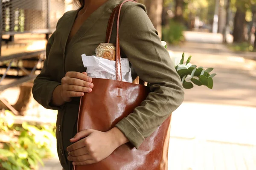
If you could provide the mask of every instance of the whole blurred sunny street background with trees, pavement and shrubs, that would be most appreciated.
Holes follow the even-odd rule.
[[[72,0],[1,0],[0,170],[62,170],[56,111],[31,95]],[[139,0],[174,62],[214,68],[172,113],[169,170],[256,170],[256,0]],[[181,77],[182,78],[182,77]],[[43,164],[43,165],[42,165]]]

